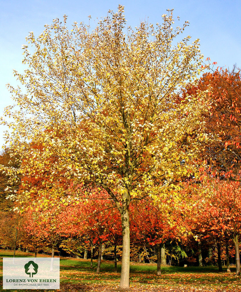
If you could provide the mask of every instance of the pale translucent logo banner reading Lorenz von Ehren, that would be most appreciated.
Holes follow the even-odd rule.
[[[3,289],[59,289],[59,258],[3,258]]]

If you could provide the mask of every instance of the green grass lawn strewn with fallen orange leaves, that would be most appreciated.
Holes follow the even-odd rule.
[[[12,257],[13,251],[0,250],[0,269],[2,291],[2,258]],[[17,251],[17,257],[33,257],[33,253]],[[38,255],[40,256],[40,255]],[[43,255],[41,255],[42,257]],[[101,272],[96,274],[97,260],[60,258],[60,290],[59,292],[85,291],[118,291],[121,263],[118,263],[118,273],[114,273],[114,262],[102,261]],[[235,267],[231,274],[218,272],[217,267],[174,267],[162,266],[162,275],[156,275],[156,264],[130,265],[130,291],[241,291],[241,277],[235,276]],[[19,290],[4,290],[19,291]],[[53,291],[53,290],[28,290]]]

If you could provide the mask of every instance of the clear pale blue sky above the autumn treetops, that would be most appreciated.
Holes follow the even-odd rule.
[[[13,69],[22,71],[21,47],[30,31],[39,35],[46,23],[64,14],[69,27],[74,21],[88,23],[88,15],[94,27],[97,17],[107,15],[108,10],[117,11],[118,4],[125,6],[127,24],[132,27],[147,18],[149,23],[161,23],[166,9],[174,8],[174,18],[180,16],[178,25],[189,20],[185,35],[200,39],[204,58],[210,57],[220,67],[232,68],[234,63],[241,67],[240,0],[0,0],[0,116],[4,107],[13,104],[6,84],[16,85]],[[0,147],[4,130],[0,126]]]

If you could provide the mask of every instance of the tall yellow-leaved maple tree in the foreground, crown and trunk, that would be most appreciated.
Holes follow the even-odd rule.
[[[128,288],[130,202],[143,196],[158,200],[156,194],[174,188],[180,176],[196,173],[192,161],[203,139],[199,109],[205,104],[202,94],[177,98],[201,68],[198,39],[189,43],[187,36],[174,44],[188,22],[174,27],[168,10],[162,24],[141,22],[133,30],[123,13],[120,5],[92,32],[76,22],[69,31],[66,16],[38,37],[31,32],[27,41],[34,51],[23,47],[27,69],[15,71],[24,90],[9,86],[17,107],[5,115],[14,120],[6,122],[13,130],[6,140],[15,140],[14,151],[28,161],[20,173],[48,177],[48,186],[38,190],[45,205],[60,197],[59,204],[78,200],[73,188],[67,190],[70,180],[109,194],[121,214],[120,287]],[[42,149],[33,150],[29,141],[40,142]],[[21,202],[31,188],[26,180]]]

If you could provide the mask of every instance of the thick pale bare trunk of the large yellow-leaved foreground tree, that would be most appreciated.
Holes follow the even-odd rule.
[[[121,262],[121,281],[120,288],[129,288],[129,274],[130,274],[130,225],[129,225],[129,211],[126,206],[123,206],[121,213],[122,223],[122,262]]]

